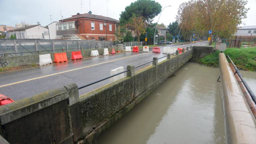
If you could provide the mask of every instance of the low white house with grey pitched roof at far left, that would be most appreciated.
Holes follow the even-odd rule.
[[[50,39],[49,30],[38,25],[31,25],[14,29],[16,39]]]

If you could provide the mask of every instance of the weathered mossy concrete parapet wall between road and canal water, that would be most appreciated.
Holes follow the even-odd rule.
[[[0,135],[9,143],[94,143],[150,92],[192,58],[190,49],[168,55],[123,79],[79,97],[76,84],[46,91],[0,107]],[[1,137],[0,137],[1,140]]]

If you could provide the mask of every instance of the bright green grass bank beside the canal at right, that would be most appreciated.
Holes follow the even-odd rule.
[[[219,65],[219,50],[213,54],[207,55],[198,60],[199,63],[206,66],[218,67]],[[228,48],[224,51],[225,55],[229,55],[232,61],[238,68],[244,70],[256,71],[256,48]]]

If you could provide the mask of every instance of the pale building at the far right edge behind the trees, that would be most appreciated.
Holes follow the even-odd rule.
[[[250,38],[251,35],[252,38],[256,37],[256,26],[243,26],[236,32],[236,36],[241,36],[241,38]]]

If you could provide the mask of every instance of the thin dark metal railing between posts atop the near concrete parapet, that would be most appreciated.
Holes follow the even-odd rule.
[[[170,55],[174,55],[174,54],[176,54],[176,52],[175,52],[175,53],[171,53]],[[166,56],[160,57],[160,58],[158,58],[158,59],[165,58],[165,57],[168,57],[168,56],[169,56],[169,55],[166,55]],[[153,61],[155,61],[155,60],[156,60],[156,59],[153,58],[153,60],[148,61],[148,62],[145,62],[145,63],[142,63],[142,64],[140,64],[140,65],[137,65],[137,66],[135,66],[134,68],[143,66],[143,65],[148,64],[148,63],[150,63],[150,62],[153,62]],[[78,89],[82,89],[82,88],[88,87],[88,86],[90,86],[90,85],[96,84],[96,83],[98,83],[98,82],[104,81],[104,80],[106,80],[106,79],[112,78],[112,77],[114,77],[114,76],[117,76],[117,75],[119,75],[119,74],[122,74],[122,73],[125,73],[125,72],[128,72],[128,71],[129,71],[129,69],[128,69],[128,70],[124,70],[124,71],[119,72],[119,73],[116,73],[116,74],[114,74],[114,75],[110,75],[110,76],[108,76],[108,77],[106,77],[106,78],[103,78],[103,79],[97,80],[97,81],[95,81],[95,82],[91,82],[91,83],[89,83],[89,84],[86,84],[86,85],[84,85],[84,86],[78,87]]]

